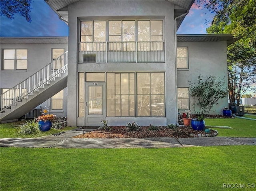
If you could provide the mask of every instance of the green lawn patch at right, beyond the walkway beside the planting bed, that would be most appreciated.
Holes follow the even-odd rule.
[[[205,119],[206,125],[229,126],[233,129],[216,128],[218,136],[256,137],[256,121],[239,118]],[[214,128],[213,128],[214,129]]]

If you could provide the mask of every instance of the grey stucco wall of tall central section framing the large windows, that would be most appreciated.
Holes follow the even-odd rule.
[[[79,19],[164,19],[166,63],[110,63],[78,64]],[[68,6],[68,125],[76,126],[84,119],[77,119],[77,72],[84,71],[165,71],[166,72],[166,118],[162,124],[176,123],[175,96],[175,45],[174,5],[168,1],[80,1]],[[111,118],[115,124],[126,124],[126,118]],[[141,120],[154,124],[156,118]],[[130,121],[130,120],[129,120]]]

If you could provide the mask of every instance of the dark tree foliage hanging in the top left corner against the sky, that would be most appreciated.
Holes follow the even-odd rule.
[[[18,13],[25,17],[27,22],[31,22],[31,3],[31,0],[1,0],[1,16],[14,19],[14,14]]]

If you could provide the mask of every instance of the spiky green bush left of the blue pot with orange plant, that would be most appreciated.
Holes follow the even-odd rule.
[[[26,121],[26,123],[17,128],[16,132],[22,135],[38,134],[38,122],[36,122],[36,119]]]

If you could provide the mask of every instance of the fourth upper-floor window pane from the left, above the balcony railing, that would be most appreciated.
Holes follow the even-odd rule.
[[[135,21],[123,21],[123,41],[135,41]]]

